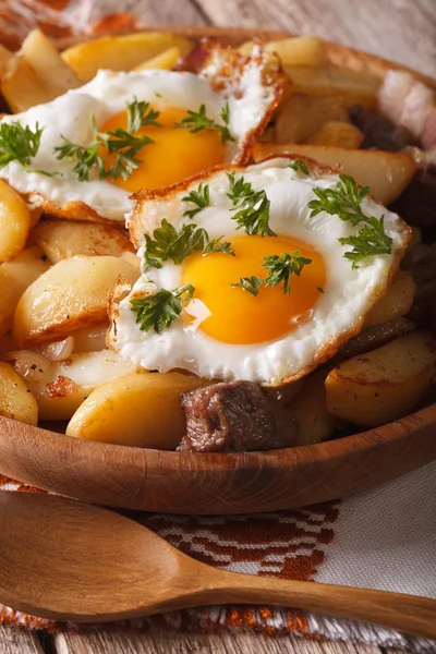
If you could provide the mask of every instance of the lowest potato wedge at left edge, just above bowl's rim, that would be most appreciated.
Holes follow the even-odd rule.
[[[0,415],[28,425],[38,423],[38,405],[12,365],[0,361]]]

